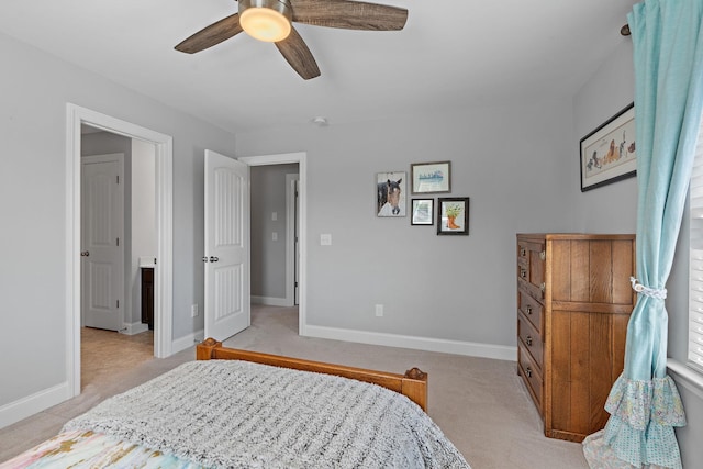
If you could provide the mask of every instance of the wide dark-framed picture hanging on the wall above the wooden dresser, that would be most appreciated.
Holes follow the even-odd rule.
[[[635,104],[581,138],[581,192],[637,174]]]

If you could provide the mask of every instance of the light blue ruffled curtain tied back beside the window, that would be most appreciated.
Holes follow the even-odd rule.
[[[625,369],[605,428],[584,442],[592,468],[681,468],[674,427],[685,425],[667,375],[666,282],[679,236],[703,112],[703,0],[645,0],[627,16],[635,66],[637,303]]]

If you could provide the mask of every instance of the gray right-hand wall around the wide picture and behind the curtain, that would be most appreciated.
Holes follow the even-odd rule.
[[[577,141],[598,127],[606,119],[634,100],[634,74],[632,41],[624,38],[610,59],[602,64],[593,77],[574,98],[574,129]],[[574,159],[572,169],[579,175]],[[635,178],[603,188],[577,194],[574,212],[576,230],[587,232],[614,231],[635,233],[637,228],[637,180]],[[667,310],[669,312],[669,357],[687,361],[688,344],[688,288],[689,288],[689,223],[688,210],[677,248],[669,290]],[[671,373],[677,381],[687,411],[688,426],[677,431],[684,468],[700,465],[703,453],[703,390]],[[695,462],[694,462],[695,458]]]

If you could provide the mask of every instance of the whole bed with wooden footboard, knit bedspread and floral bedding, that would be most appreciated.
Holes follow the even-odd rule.
[[[427,375],[197,346],[0,468],[469,468],[425,413]]]

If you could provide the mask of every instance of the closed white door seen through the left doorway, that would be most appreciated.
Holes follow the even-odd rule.
[[[83,326],[124,326],[123,154],[81,158],[81,313]]]

